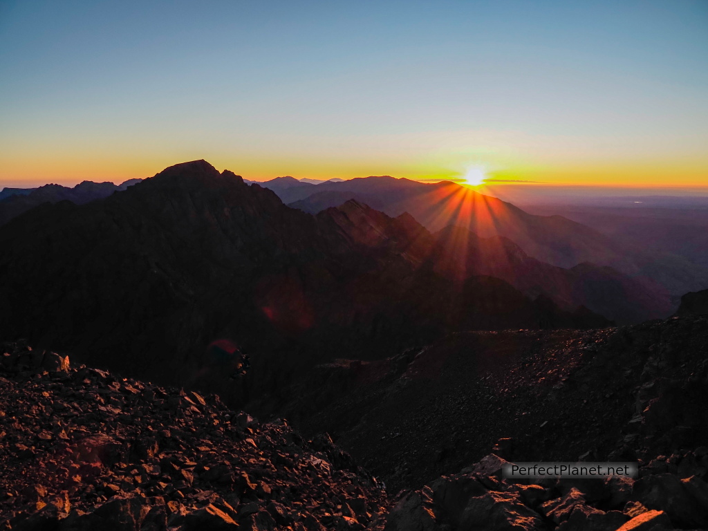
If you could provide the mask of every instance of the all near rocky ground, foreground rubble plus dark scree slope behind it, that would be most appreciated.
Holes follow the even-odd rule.
[[[299,403],[320,413],[308,424],[295,408],[295,421],[329,418],[348,447],[359,438],[354,455],[379,480],[327,435],[305,440],[214,395],[6,343],[0,530],[708,529],[706,317],[455,334],[321,370],[319,401]],[[484,445],[493,453],[477,455]],[[504,459],[640,468],[636,479],[510,481]]]

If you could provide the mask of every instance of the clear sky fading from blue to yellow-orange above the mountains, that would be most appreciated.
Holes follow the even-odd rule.
[[[0,0],[0,187],[708,185],[708,1]]]

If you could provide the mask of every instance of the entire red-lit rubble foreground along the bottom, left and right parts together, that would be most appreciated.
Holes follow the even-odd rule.
[[[4,344],[0,530],[700,530],[708,447],[638,479],[512,482],[505,440],[480,462],[387,496],[325,435],[258,423],[217,396]]]

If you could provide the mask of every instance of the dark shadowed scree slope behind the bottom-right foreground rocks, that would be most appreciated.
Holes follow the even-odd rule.
[[[282,414],[330,433],[392,493],[479,461],[500,438],[521,461],[649,462],[708,445],[708,319],[455,333],[321,365],[292,394]]]

